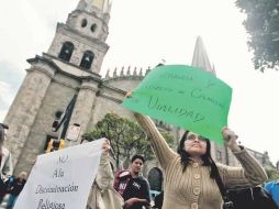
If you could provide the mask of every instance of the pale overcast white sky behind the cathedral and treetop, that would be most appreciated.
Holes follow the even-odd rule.
[[[4,119],[30,65],[47,52],[56,23],[66,22],[78,0],[3,1],[0,7],[0,121]],[[216,76],[233,88],[228,127],[243,145],[279,160],[279,73],[255,70],[246,15],[234,1],[119,0],[112,2],[101,74],[122,66],[190,65],[200,35]]]

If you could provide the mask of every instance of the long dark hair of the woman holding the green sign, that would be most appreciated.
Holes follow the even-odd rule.
[[[188,135],[189,131],[186,131],[179,142],[179,145],[177,147],[177,153],[180,155],[181,157],[181,165],[182,165],[182,169],[183,172],[186,170],[187,166],[190,163],[190,154],[185,150],[185,141],[187,140],[187,135]],[[217,167],[215,162],[212,160],[211,156],[211,143],[209,141],[209,139],[205,139],[207,142],[207,152],[204,155],[201,156],[201,160],[203,161],[203,165],[204,166],[210,166],[211,170],[210,170],[210,177],[211,178],[215,178],[216,174],[217,174]]]

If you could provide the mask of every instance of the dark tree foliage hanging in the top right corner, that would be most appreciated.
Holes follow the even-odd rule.
[[[247,14],[244,21],[249,34],[248,46],[254,51],[254,66],[264,72],[279,68],[279,3],[278,0],[236,0]]]

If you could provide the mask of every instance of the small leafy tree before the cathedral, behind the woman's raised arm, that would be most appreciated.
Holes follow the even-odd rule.
[[[161,132],[168,143],[174,142],[174,136],[168,132]],[[121,118],[114,113],[108,113],[97,122],[93,130],[82,135],[83,140],[93,141],[107,138],[120,168],[120,162],[130,161],[135,153],[143,155],[147,161],[154,158],[150,143],[140,125],[129,119]]]

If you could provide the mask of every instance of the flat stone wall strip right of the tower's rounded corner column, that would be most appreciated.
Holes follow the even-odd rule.
[[[67,84],[67,86],[63,84]],[[78,87],[79,82],[76,79],[60,74],[55,75],[41,107],[37,109],[37,114],[31,127],[30,134],[26,136],[24,147],[18,151],[20,157],[14,169],[15,174],[32,168],[35,157],[44,151],[47,134],[52,132],[56,111],[65,110]]]

